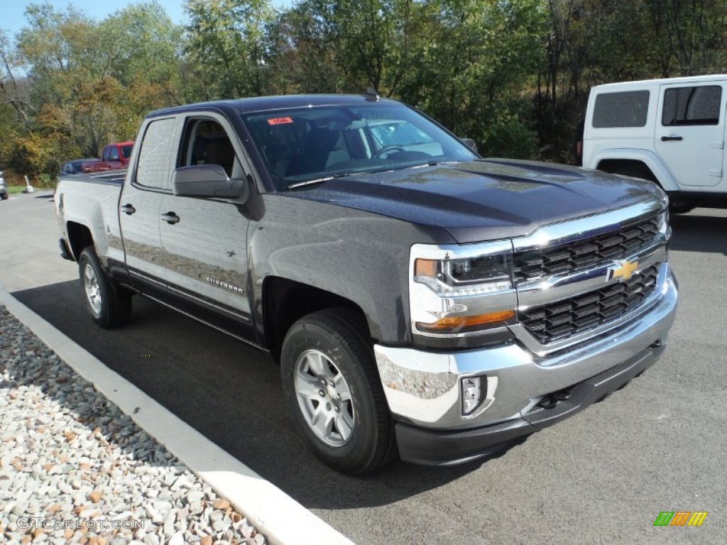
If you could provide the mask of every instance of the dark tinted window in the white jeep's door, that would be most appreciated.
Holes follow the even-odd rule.
[[[722,87],[677,87],[664,92],[663,126],[717,125]]]

